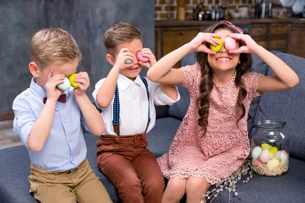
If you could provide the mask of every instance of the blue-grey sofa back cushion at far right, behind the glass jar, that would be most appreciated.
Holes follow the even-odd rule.
[[[286,122],[284,135],[290,139],[290,156],[305,160],[305,58],[273,52],[286,62],[298,75],[299,84],[282,92],[265,92],[261,96],[255,122],[277,120]],[[268,76],[275,75],[271,69]]]

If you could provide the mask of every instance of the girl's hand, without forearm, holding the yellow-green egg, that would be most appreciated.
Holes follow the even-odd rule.
[[[189,44],[191,45],[191,48],[193,51],[205,52],[208,54],[216,54],[215,51],[210,50],[204,44],[204,42],[207,42],[214,46],[219,45],[220,43],[217,40],[215,40],[214,38],[221,39],[222,36],[217,35],[215,33],[199,32],[198,35],[191,42],[189,42]]]

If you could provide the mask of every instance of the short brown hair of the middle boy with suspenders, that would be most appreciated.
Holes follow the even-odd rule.
[[[115,49],[118,44],[130,42],[132,40],[142,40],[142,33],[134,25],[119,22],[112,25],[104,35],[104,45],[108,54],[114,57]]]

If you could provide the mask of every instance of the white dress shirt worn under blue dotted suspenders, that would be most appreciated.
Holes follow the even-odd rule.
[[[98,91],[106,78],[100,80],[92,93],[96,101],[97,107],[102,109],[102,116],[105,124],[105,131],[103,135],[116,135],[113,130],[113,100],[107,108],[101,108],[97,103]],[[162,90],[159,83],[151,82],[146,78],[149,92],[149,110],[150,110],[150,124],[147,132],[149,132],[156,123],[156,109],[154,105],[173,105],[180,99],[176,100],[168,97]],[[126,76],[119,74],[117,79],[118,95],[119,95],[119,123],[120,123],[120,136],[131,136],[138,133],[144,133],[148,121],[148,99],[146,87],[137,76],[135,81],[130,80]],[[177,90],[178,91],[178,90]],[[114,95],[113,95],[114,98]]]

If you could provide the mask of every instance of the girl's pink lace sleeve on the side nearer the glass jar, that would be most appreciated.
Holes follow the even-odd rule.
[[[261,76],[263,75],[259,73],[246,73],[243,76],[243,81],[247,86],[247,92],[251,98],[255,98],[264,94],[264,92],[257,91],[258,78]]]

